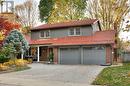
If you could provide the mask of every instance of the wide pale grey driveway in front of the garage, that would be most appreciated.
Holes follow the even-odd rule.
[[[89,86],[104,66],[33,63],[20,72],[0,74],[0,86]]]

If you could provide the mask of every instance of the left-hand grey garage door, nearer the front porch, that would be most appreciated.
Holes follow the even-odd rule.
[[[79,48],[60,48],[61,64],[80,64]]]

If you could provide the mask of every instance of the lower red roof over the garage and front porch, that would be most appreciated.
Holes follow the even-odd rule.
[[[30,45],[91,45],[91,44],[114,44],[115,31],[97,31],[92,36],[67,36],[62,38],[37,39],[28,38]]]

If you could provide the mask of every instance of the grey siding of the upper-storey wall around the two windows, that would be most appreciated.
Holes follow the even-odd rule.
[[[70,27],[70,28],[75,28],[75,27]],[[69,36],[70,28],[50,30],[50,38],[59,38],[59,37]],[[40,31],[43,31],[43,30],[31,31],[31,38],[32,39],[41,39]],[[83,27],[81,27],[80,32],[81,32],[81,36],[90,36],[93,34],[92,26],[83,26]]]

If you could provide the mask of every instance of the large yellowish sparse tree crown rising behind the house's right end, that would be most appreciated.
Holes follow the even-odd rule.
[[[124,17],[130,12],[128,0],[88,0],[88,18],[97,18],[103,30],[121,30]]]

